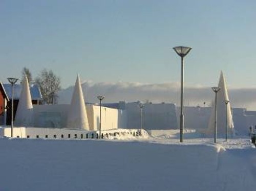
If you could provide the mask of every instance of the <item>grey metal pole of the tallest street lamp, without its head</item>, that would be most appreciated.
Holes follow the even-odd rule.
[[[184,115],[183,115],[183,81],[184,81],[184,62],[181,57],[181,94],[180,94],[180,142],[183,142],[183,126],[184,126]]]

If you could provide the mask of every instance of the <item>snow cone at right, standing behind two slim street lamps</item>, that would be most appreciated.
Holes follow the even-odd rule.
[[[217,134],[222,137],[225,136],[226,116],[227,116],[228,136],[232,136],[234,133],[234,125],[233,125],[230,103],[226,105],[224,102],[226,100],[229,101],[229,98],[228,98],[226,81],[222,71],[221,71],[218,87],[220,87],[221,89],[217,93]],[[207,134],[214,135],[214,132],[215,132],[215,103],[213,102]]]

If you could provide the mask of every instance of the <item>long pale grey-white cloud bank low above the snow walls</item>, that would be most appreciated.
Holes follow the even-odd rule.
[[[82,83],[82,89],[86,102],[98,102],[97,96],[105,96],[104,102],[119,101],[146,101],[171,102],[180,104],[180,83],[148,84],[139,82],[100,82],[86,81]],[[256,88],[229,89],[229,99],[232,107],[246,107],[256,110]],[[59,93],[59,103],[70,103],[73,87],[63,89]],[[184,105],[208,106],[214,99],[214,93],[210,87],[186,87],[184,88]]]

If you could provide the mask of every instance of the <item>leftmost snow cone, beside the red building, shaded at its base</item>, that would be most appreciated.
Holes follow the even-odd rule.
[[[22,92],[20,93],[18,107],[16,111],[15,126],[32,127],[33,105],[31,100],[28,78],[25,75],[22,82]]]

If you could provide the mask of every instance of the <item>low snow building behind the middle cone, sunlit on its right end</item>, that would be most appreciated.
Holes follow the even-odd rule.
[[[66,127],[70,105],[35,105],[34,127],[63,128]],[[91,131],[99,129],[100,106],[86,105],[89,128]],[[101,107],[101,129],[117,129],[125,125],[125,112]],[[75,129],[75,128],[74,128]]]

